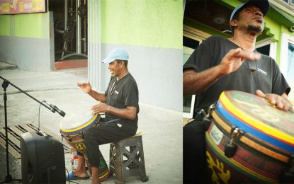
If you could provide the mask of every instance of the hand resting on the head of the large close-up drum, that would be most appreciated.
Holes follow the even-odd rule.
[[[261,98],[266,98],[269,103],[272,105],[275,105],[276,108],[284,111],[292,111],[294,113],[294,107],[293,105],[288,102],[288,100],[285,98],[285,96],[278,96],[276,94],[264,94],[262,91],[257,90],[256,95],[260,96]]]

